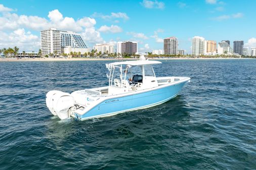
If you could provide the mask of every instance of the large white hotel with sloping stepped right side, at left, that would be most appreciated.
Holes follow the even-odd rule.
[[[79,33],[71,31],[60,31],[50,28],[40,32],[40,42],[42,55],[55,53],[60,54],[64,47],[87,48],[87,44]]]

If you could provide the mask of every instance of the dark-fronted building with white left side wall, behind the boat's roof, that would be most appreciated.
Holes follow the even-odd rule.
[[[117,53],[135,54],[138,52],[138,42],[119,41],[117,42]]]

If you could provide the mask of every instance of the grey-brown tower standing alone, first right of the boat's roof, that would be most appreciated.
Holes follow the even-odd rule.
[[[178,54],[178,39],[176,37],[164,38],[163,40],[164,54]]]

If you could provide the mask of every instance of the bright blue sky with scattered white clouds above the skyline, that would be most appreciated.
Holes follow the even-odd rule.
[[[138,41],[139,52],[163,49],[175,36],[179,49],[191,53],[191,39],[243,40],[256,46],[256,1],[10,1],[0,0],[0,48],[38,51],[40,31],[51,27],[81,33],[96,43]]]

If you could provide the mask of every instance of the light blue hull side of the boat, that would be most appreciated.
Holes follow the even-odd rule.
[[[109,117],[125,111],[152,107],[176,97],[186,83],[187,81],[184,81],[179,84],[164,86],[146,92],[106,99],[83,115],[74,113],[74,117],[80,120],[87,120],[91,118]]]

